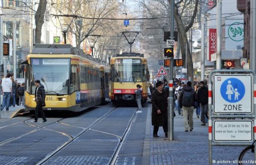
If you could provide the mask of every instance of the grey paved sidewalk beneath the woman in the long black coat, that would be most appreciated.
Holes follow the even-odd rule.
[[[208,124],[201,126],[201,120],[196,117],[194,111],[193,131],[184,132],[183,116],[175,111],[174,140],[165,138],[162,127],[159,128],[160,138],[153,138],[153,126],[151,125],[151,106],[148,106],[146,122],[146,135],[143,151],[143,165],[208,165],[209,141]],[[150,144],[149,144],[150,143]],[[147,149],[147,146],[149,148]],[[212,146],[212,165],[237,165],[236,163],[217,163],[217,161],[238,160],[238,156],[245,146]],[[150,150],[150,156],[146,155]],[[149,156],[150,158],[148,158]],[[149,160],[148,160],[149,159]],[[251,157],[253,160],[253,156]],[[149,162],[150,161],[150,162]]]

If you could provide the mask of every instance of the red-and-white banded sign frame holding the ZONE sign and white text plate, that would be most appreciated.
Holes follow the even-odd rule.
[[[209,165],[215,163],[212,160],[212,146],[249,146],[253,143],[253,128],[256,127],[255,87],[256,73],[253,70],[230,69],[210,72]],[[226,120],[227,118],[234,120]]]

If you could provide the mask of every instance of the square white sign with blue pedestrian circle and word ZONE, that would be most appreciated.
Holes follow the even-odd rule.
[[[249,114],[253,112],[252,80],[251,74],[214,75],[214,113]]]

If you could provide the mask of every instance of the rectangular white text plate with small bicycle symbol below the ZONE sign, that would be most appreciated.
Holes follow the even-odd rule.
[[[214,120],[214,141],[252,141],[252,120]]]

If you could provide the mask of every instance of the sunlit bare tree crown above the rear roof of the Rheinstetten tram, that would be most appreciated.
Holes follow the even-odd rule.
[[[76,47],[80,48],[81,43],[89,35],[96,34],[100,29],[110,29],[108,25],[111,20],[106,18],[113,18],[118,5],[112,0],[66,0],[66,7],[62,6],[63,8],[66,11],[64,14],[72,17],[63,18],[62,25],[70,27],[67,30],[75,35]]]

